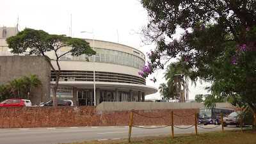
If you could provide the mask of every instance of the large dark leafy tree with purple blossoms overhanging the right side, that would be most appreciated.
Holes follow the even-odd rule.
[[[256,1],[141,0],[149,22],[141,35],[156,49],[148,54],[147,77],[179,56],[191,77],[213,81],[212,97],[241,97],[239,102],[256,113]],[[177,28],[184,29],[173,39]],[[170,40],[171,39],[171,40]],[[241,106],[240,105],[240,106]]]

